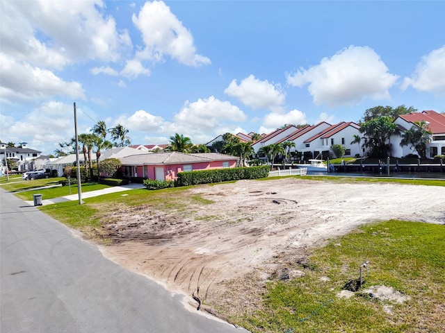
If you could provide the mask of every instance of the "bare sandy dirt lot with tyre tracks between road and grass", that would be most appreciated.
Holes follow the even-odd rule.
[[[117,207],[102,228],[113,244],[101,250],[170,291],[184,293],[191,305],[196,305],[191,295],[198,286],[207,305],[254,302],[261,283],[285,262],[364,223],[445,224],[445,187],[283,178],[199,186],[184,195],[211,201],[195,203],[186,212]],[[235,299],[229,289],[238,296],[242,291],[243,297]]]

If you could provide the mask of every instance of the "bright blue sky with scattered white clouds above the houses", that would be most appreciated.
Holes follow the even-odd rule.
[[[445,1],[1,0],[0,139],[97,121],[207,143],[376,105],[445,112]]]

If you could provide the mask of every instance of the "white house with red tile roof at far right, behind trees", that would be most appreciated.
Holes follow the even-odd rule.
[[[422,112],[414,112],[410,114],[401,114],[394,123],[398,125],[398,129],[403,131],[409,130],[412,126],[416,126],[417,122],[425,121],[427,129],[431,131],[430,143],[427,144],[427,156],[432,158],[436,155],[445,155],[445,114],[426,110]],[[409,154],[417,155],[414,148],[410,146],[401,146],[401,135],[393,135],[391,137],[391,148],[394,157],[403,157]]]

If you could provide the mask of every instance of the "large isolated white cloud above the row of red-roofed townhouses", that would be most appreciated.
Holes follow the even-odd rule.
[[[349,46],[323,58],[319,65],[288,75],[287,83],[298,87],[309,83],[316,105],[336,106],[357,104],[365,98],[389,99],[388,89],[397,79],[373,49]]]

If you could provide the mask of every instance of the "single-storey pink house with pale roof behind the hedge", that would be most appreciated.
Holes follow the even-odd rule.
[[[127,177],[175,180],[178,172],[236,167],[238,157],[220,153],[146,153],[119,158]]]

